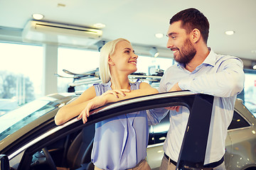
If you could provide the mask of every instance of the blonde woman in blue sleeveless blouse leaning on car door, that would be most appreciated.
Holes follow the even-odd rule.
[[[137,58],[131,43],[119,38],[107,42],[100,52],[100,78],[75,101],[55,115],[60,125],[78,115],[86,123],[89,111],[125,98],[155,94],[158,91],[141,81],[131,83],[128,75],[137,71]],[[146,111],[119,115],[95,125],[92,163],[95,169],[150,169],[146,163],[148,123]]]

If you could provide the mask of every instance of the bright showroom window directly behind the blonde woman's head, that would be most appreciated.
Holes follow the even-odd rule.
[[[96,83],[95,79],[81,79],[80,82],[91,82],[90,84],[80,83],[73,87],[74,81],[72,74],[66,74],[63,69],[73,73],[85,73],[99,67],[100,52],[84,49],[74,49],[68,47],[58,47],[58,74],[62,77],[58,78],[58,92],[67,91],[85,91],[92,84]],[[173,63],[171,58],[146,57],[139,56],[137,62],[137,73],[146,75],[157,74],[156,69],[165,71]],[[70,77],[70,78],[63,78]],[[151,84],[151,81],[147,81]],[[72,86],[70,86],[72,85]],[[157,87],[159,84],[151,84]]]

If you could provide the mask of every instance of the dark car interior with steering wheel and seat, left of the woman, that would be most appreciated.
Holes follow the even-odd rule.
[[[62,137],[33,154],[30,169],[94,169],[90,159],[94,134],[95,124],[92,124]]]

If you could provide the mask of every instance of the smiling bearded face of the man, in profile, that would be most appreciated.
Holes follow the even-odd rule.
[[[189,35],[185,29],[181,28],[181,21],[174,22],[169,26],[167,48],[174,52],[176,62],[188,64],[196,55],[196,49],[193,47]]]

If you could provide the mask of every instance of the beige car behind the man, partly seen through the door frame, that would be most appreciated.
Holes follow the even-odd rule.
[[[256,115],[250,113],[242,100],[235,101],[233,120],[225,141],[225,167],[227,170],[256,169]],[[164,155],[164,140],[169,130],[169,116],[149,128],[147,160],[152,170],[159,169]]]

